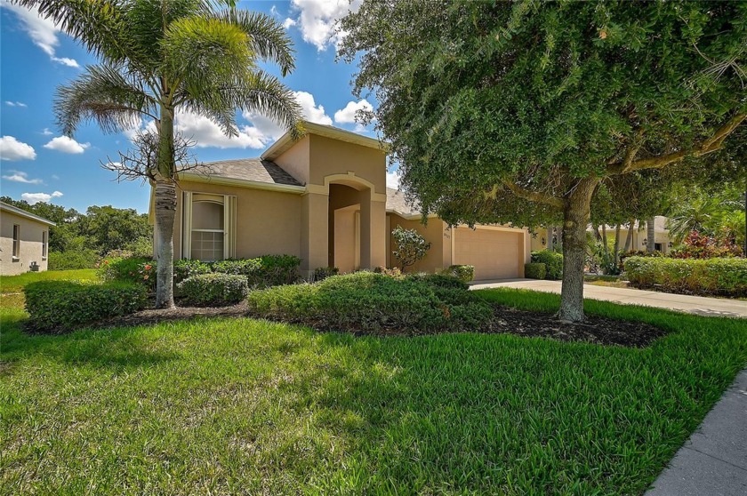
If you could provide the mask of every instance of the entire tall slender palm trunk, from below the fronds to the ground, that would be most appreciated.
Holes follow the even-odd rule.
[[[157,279],[156,308],[173,308],[173,221],[176,217],[176,183],[173,147],[174,109],[161,105],[156,174]]]

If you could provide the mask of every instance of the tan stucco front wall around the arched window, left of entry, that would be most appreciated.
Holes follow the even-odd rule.
[[[182,191],[236,196],[237,258],[261,255],[301,254],[301,196],[293,193],[237,188],[218,184],[181,181],[177,190],[174,222],[174,257],[181,252]]]

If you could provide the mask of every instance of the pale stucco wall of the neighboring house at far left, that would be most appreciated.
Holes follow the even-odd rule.
[[[12,257],[13,224],[20,226],[18,260],[13,260]],[[13,212],[0,211],[0,275],[13,276],[28,272],[28,266],[34,261],[39,265],[39,270],[46,270],[47,260],[42,258],[42,233],[45,231],[49,236],[49,226],[46,224]]]

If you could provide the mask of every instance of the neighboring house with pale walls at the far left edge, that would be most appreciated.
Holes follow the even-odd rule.
[[[0,275],[47,269],[51,220],[0,202]]]

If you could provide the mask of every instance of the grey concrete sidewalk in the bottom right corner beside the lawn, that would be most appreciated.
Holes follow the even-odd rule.
[[[747,369],[736,376],[646,496],[747,494]]]

